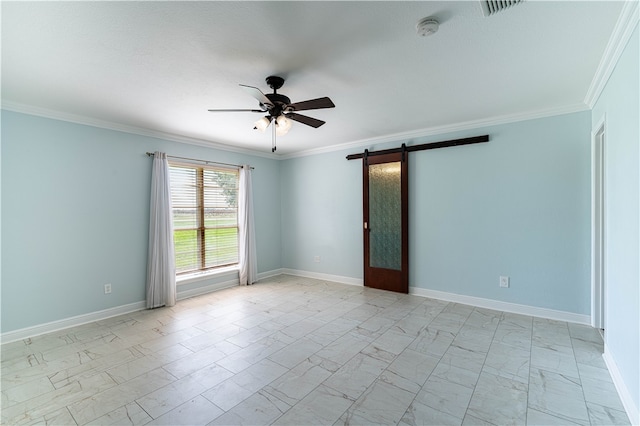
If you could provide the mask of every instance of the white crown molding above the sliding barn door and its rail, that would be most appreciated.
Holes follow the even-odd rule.
[[[371,147],[372,145],[384,144],[387,142],[397,142],[399,140],[419,139],[428,136],[437,136],[446,133],[474,130],[482,127],[496,126],[501,124],[516,123],[518,121],[535,120],[538,118],[552,117],[556,115],[573,114],[575,112],[582,112],[588,110],[589,107],[580,102],[573,105],[567,105],[557,108],[548,108],[537,111],[529,111],[517,114],[508,114],[491,118],[484,118],[480,120],[465,121],[462,123],[449,124],[445,126],[428,127],[420,130],[413,130],[410,132],[395,133],[391,135],[384,135],[379,137],[373,137],[368,139],[361,139],[354,142],[348,142],[343,144],[336,144],[326,146],[322,148],[314,148],[305,151],[296,152],[293,154],[285,154],[279,157],[280,160],[289,160],[298,157],[307,157],[310,155],[326,154],[336,151],[346,151],[350,149],[360,149],[363,147]]]

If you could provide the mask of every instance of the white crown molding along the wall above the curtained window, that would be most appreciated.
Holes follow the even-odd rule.
[[[4,99],[2,100],[2,109],[7,111],[18,112],[21,114],[35,115],[38,117],[50,118],[53,120],[66,121],[74,124],[98,127],[98,128],[107,129],[107,130],[114,130],[117,132],[131,133],[134,135],[164,139],[172,142],[185,143],[189,145],[197,145],[204,148],[219,149],[221,151],[247,154],[247,155],[252,155],[254,157],[264,157],[272,160],[279,159],[277,155],[274,155],[271,153],[265,153],[265,152],[260,152],[256,150],[246,149],[246,148],[239,148],[231,145],[222,144],[219,142],[213,142],[205,139],[191,138],[188,136],[181,136],[181,135],[162,132],[158,130],[145,129],[142,127],[135,127],[135,126],[127,126],[124,124],[98,120],[98,119],[90,118],[86,116],[68,114],[61,111],[53,111],[50,109],[35,107],[32,105],[20,104],[17,102],[11,102]]]

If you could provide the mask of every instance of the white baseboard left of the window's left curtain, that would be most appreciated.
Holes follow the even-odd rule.
[[[146,304],[144,301],[129,303],[128,305],[122,305],[115,308],[104,309],[102,311],[91,312],[89,314],[77,315],[75,317],[65,318],[58,321],[51,321],[45,324],[35,325],[33,327],[26,327],[19,330],[8,331],[0,335],[0,342],[2,344],[15,342],[16,340],[27,339],[29,337],[51,333],[69,327],[76,327],[78,325],[88,324],[90,322],[100,321],[106,318],[140,311],[142,309],[145,309],[145,307]]]

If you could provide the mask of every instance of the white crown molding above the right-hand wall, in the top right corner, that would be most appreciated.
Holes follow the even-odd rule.
[[[593,108],[598,98],[600,98],[600,94],[609,81],[609,77],[611,77],[620,56],[622,56],[622,52],[624,52],[633,31],[638,25],[639,17],[638,0],[625,1],[589,90],[587,90],[587,94],[584,97],[584,103],[589,108]]]

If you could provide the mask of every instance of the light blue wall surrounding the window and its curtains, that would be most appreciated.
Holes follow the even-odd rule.
[[[2,332],[144,300],[156,150],[255,166],[258,272],[281,267],[278,161],[3,111]]]

